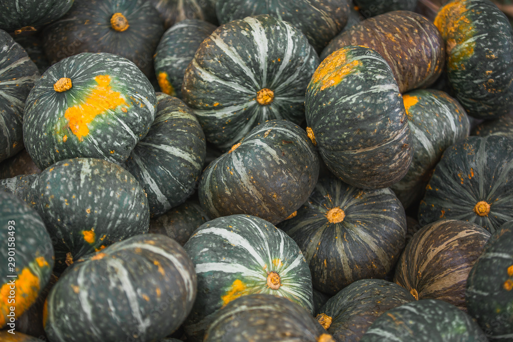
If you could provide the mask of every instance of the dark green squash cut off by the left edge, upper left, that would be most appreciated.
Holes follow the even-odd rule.
[[[0,30],[0,162],[23,149],[23,108],[39,76],[23,47]]]

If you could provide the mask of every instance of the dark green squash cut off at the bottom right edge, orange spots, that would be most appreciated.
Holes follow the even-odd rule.
[[[503,224],[488,240],[470,270],[465,300],[468,313],[491,341],[513,338],[513,221]],[[509,290],[508,290],[509,289]]]

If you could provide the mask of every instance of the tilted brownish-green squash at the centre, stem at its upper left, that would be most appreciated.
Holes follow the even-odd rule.
[[[306,201],[319,157],[306,132],[269,120],[203,171],[198,195],[210,218],[249,214],[278,224]]]

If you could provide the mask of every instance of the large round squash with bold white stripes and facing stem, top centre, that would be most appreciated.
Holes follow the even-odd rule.
[[[270,15],[222,25],[187,67],[182,96],[208,142],[228,150],[268,119],[304,119],[305,89],[319,57],[305,36]]]

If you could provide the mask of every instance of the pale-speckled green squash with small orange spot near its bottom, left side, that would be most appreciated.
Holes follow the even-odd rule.
[[[68,252],[77,259],[148,232],[143,188],[128,171],[103,159],[57,162],[37,176],[25,200],[28,196],[54,239],[58,270],[66,267]]]

